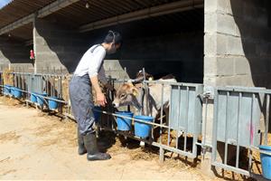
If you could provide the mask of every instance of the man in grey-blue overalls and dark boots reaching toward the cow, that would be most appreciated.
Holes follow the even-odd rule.
[[[106,53],[116,52],[121,43],[120,33],[109,31],[104,43],[93,45],[84,53],[70,81],[71,110],[78,125],[78,152],[79,155],[88,153],[89,161],[111,158],[109,154],[101,153],[98,150],[91,90],[93,87],[96,91],[98,104],[104,107],[107,100],[98,81],[101,81],[109,89],[112,89],[112,86],[107,83],[103,61]]]

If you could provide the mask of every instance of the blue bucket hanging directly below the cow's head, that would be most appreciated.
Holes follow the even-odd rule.
[[[134,113],[129,111],[118,111],[116,112],[119,116],[125,116],[131,119],[124,119],[117,117],[117,130],[131,130],[132,128],[132,118]]]

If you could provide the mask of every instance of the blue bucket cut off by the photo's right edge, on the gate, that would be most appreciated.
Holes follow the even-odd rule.
[[[261,151],[271,153],[271,146],[261,145],[259,146],[259,149]],[[262,169],[263,169],[263,176],[266,179],[271,179],[271,156],[261,153],[260,157],[261,157],[261,163],[262,163]]]

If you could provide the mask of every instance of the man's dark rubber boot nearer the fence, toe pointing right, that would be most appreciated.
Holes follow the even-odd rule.
[[[95,133],[88,133],[86,136],[83,136],[83,138],[85,147],[88,151],[87,158],[89,161],[106,160],[111,158],[109,154],[101,153],[98,151],[97,138]]]

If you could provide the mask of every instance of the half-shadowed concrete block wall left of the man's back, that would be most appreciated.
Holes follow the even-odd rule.
[[[78,33],[41,19],[34,22],[33,43],[37,72],[73,72],[88,48]]]

